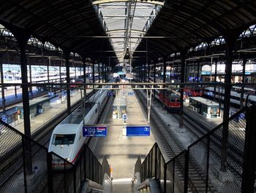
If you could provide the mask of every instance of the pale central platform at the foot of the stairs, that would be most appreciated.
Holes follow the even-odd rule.
[[[102,124],[108,125],[108,136],[98,138],[94,154],[102,162],[107,157],[110,163],[113,193],[132,192],[132,178],[135,162],[140,155],[144,159],[154,145],[155,139],[150,136],[126,136],[126,125],[148,125],[137,98],[130,87],[120,90],[120,97],[127,100],[127,121],[113,119],[113,112],[108,111],[108,118]]]

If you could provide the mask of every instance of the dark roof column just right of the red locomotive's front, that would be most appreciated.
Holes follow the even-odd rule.
[[[184,76],[185,76],[185,65],[186,65],[186,52],[181,52],[181,95],[180,95],[180,111],[178,112],[179,114],[179,127],[182,128],[183,127],[183,98],[184,98]]]

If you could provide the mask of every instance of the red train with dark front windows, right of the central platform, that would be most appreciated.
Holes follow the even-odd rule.
[[[180,96],[176,93],[170,92],[168,90],[156,90],[156,98],[165,105],[165,108],[172,111],[178,112],[181,108]]]

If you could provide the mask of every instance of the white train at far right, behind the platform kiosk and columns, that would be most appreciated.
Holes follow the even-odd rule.
[[[219,93],[220,92],[222,93],[221,94],[221,97],[222,97],[221,99],[223,101],[224,100],[225,89],[216,87],[216,95],[215,95],[216,98],[219,98]],[[247,95],[248,95],[247,93],[246,93],[246,91],[244,92],[244,98],[243,98],[244,106],[246,105],[246,98],[247,98]],[[204,95],[208,96],[208,98],[213,98],[214,97],[214,87],[205,87],[204,88]],[[241,98],[241,93],[239,93],[235,90],[231,90],[230,103],[232,103],[233,106],[236,106],[238,108],[240,107],[240,98]],[[250,94],[248,96],[247,105],[249,106],[249,105],[253,105],[253,104],[256,104],[256,95]]]

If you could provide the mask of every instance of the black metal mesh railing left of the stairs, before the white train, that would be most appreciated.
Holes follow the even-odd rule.
[[[101,165],[86,144],[72,164],[2,121],[0,141],[0,192],[76,193],[86,179],[110,176],[107,159]]]

